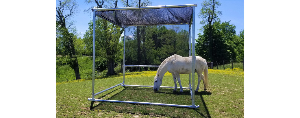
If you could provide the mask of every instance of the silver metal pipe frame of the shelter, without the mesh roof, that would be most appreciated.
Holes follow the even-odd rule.
[[[121,103],[131,103],[131,104],[149,104],[149,105],[161,105],[161,106],[172,106],[172,107],[187,107],[187,108],[199,108],[199,105],[195,105],[195,90],[194,90],[194,84],[195,84],[195,7],[197,6],[197,4],[192,4],[192,5],[168,5],[168,6],[152,6],[152,7],[136,7],[136,8],[132,8],[132,9],[150,9],[150,8],[178,8],[178,7],[193,7],[193,14],[192,14],[192,85],[189,83],[189,87],[183,87],[183,89],[190,89],[190,94],[191,94],[191,99],[192,99],[192,105],[179,105],[179,104],[164,104],[164,103],[152,103],[152,102],[137,102],[137,101],[118,101],[118,100],[103,100],[103,99],[95,99],[95,95],[98,95],[102,92],[105,92],[107,90],[113,89],[116,86],[136,86],[136,87],[153,87],[153,86],[141,86],[141,85],[125,85],[125,67],[159,67],[156,65],[125,65],[125,28],[126,26],[122,27],[124,28],[124,46],[123,46],[123,82],[119,83],[115,86],[112,86],[108,89],[105,89],[101,92],[98,92],[95,94],[95,20],[96,20],[96,11],[104,11],[104,10],[130,10],[128,8],[102,8],[100,9],[93,9],[94,12],[94,16],[93,16],[93,78],[92,78],[92,98],[88,98],[89,101],[103,101],[103,102],[121,102]],[[98,16],[98,15],[97,15]],[[101,17],[101,16],[99,16]],[[102,17],[103,18],[103,17]],[[107,19],[105,19],[107,20]],[[110,21],[109,21],[110,22]],[[114,23],[115,24],[115,23]],[[119,26],[119,25],[118,25]],[[189,56],[190,56],[190,27],[189,27]],[[190,78],[190,77],[189,77]],[[189,79],[190,80],[190,79]],[[171,86],[161,86],[162,88],[175,88],[175,87],[171,87]]]

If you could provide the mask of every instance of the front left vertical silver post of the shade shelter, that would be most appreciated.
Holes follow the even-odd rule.
[[[96,11],[93,17],[93,80],[92,80],[92,99],[95,99],[95,38],[96,38]]]

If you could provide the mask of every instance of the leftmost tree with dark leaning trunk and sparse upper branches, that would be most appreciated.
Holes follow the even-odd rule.
[[[74,24],[74,21],[70,20],[76,13],[79,13],[79,8],[75,0],[58,0],[58,5],[56,5],[56,41],[59,39],[59,42],[61,43],[59,44],[61,50],[58,50],[58,53],[64,55],[62,55],[62,57],[56,57],[58,60],[57,64],[69,65],[75,71],[75,77],[76,80],[78,80],[81,78],[76,49],[74,47],[77,37],[74,35],[74,29],[71,27]],[[72,30],[73,33],[70,33]],[[62,61],[61,59],[64,59],[65,61]]]

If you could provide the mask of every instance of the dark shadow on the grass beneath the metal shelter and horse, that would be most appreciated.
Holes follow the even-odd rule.
[[[125,87],[121,92],[111,96],[110,100],[120,101],[140,101],[140,102],[155,102],[165,104],[182,104],[190,105],[190,91],[185,89],[181,92],[173,92],[170,88],[161,88],[159,91],[154,92],[152,88],[143,87]],[[122,88],[122,87],[120,87]],[[118,88],[118,89],[120,89]],[[116,89],[116,90],[118,90]],[[114,91],[116,91],[114,90]],[[112,92],[114,92],[112,91]],[[110,93],[112,93],[110,92]],[[107,93],[106,95],[110,94]],[[106,96],[103,95],[102,97]],[[210,114],[206,107],[203,95],[211,95],[211,92],[195,92],[195,105],[199,108],[184,108],[184,107],[170,107],[159,105],[147,104],[128,104],[128,103],[115,103],[115,102],[100,102],[93,107],[92,101],[90,110],[108,110],[116,112],[127,112],[132,114],[142,114],[150,116],[170,116],[170,117],[205,117],[210,118]],[[102,98],[100,97],[100,98]]]

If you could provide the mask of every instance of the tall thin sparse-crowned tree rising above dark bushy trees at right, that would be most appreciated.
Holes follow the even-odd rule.
[[[208,59],[212,58],[212,34],[213,34],[213,26],[214,22],[219,20],[219,16],[222,15],[221,11],[216,11],[216,8],[221,5],[219,1],[216,0],[204,0],[201,3],[201,10],[198,15],[199,18],[202,19],[200,24],[208,25]]]

